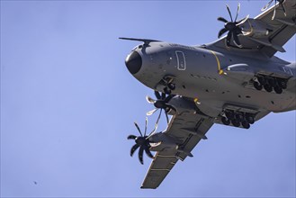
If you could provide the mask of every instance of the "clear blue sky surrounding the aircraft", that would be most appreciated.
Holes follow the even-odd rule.
[[[242,1],[239,18],[266,3]],[[139,188],[151,159],[130,157],[126,138],[153,92],[124,65],[139,42],[118,37],[208,43],[225,4],[236,12],[234,0],[1,1],[1,196],[295,197],[295,111],[214,125],[157,190]],[[284,48],[295,61],[295,36]]]

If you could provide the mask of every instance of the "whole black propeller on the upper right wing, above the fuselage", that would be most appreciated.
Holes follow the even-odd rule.
[[[239,20],[237,22],[238,19],[238,13],[240,10],[240,4],[238,4],[238,11],[237,11],[237,15],[235,20],[233,21],[232,15],[230,13],[230,9],[229,9],[229,5],[226,4],[226,8],[229,11],[229,16],[230,16],[230,22],[227,21],[225,18],[223,17],[218,17],[218,21],[223,22],[224,23],[224,28],[222,28],[219,33],[218,33],[218,38],[220,38],[222,36],[222,34],[224,34],[226,31],[229,31],[227,37],[226,37],[226,46],[229,47],[230,46],[230,40],[231,38],[233,38],[233,42],[234,44],[236,44],[236,46],[238,46],[238,48],[242,48],[242,45],[240,44],[240,41],[238,40],[238,34],[242,34],[242,30],[239,27],[240,24],[245,23],[248,19],[247,15],[244,19]]]

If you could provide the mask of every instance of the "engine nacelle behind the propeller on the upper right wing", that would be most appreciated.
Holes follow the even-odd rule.
[[[240,24],[239,27],[242,29],[244,36],[253,38],[266,37],[273,31],[272,26],[258,19],[247,19],[247,21]]]

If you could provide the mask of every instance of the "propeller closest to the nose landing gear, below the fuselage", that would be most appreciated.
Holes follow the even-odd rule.
[[[148,101],[148,103],[153,103],[156,108],[154,110],[151,110],[150,112],[147,112],[146,114],[152,115],[154,112],[157,112],[157,110],[160,109],[160,112],[157,118],[157,123],[158,123],[161,112],[162,110],[164,110],[166,113],[166,122],[168,123],[167,112],[169,112],[170,110],[174,110],[176,112],[175,107],[168,103],[175,95],[168,94],[166,96],[165,93],[159,94],[157,91],[154,91],[154,94],[156,95],[157,100],[154,100],[149,96],[146,96],[146,100]]]

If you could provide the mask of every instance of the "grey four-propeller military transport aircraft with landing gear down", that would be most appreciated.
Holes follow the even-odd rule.
[[[193,148],[214,123],[248,129],[269,112],[296,109],[296,62],[277,58],[277,51],[296,32],[296,0],[273,1],[255,18],[238,20],[229,11],[230,21],[219,31],[220,38],[201,46],[184,46],[159,40],[138,40],[143,43],[132,49],[125,59],[132,76],[155,91],[156,99],[147,96],[156,109],[151,115],[165,112],[168,126],[147,134],[130,135],[135,145],[153,161],[141,188],[157,188],[178,160],[193,157]],[[269,7],[269,8],[268,8]],[[238,20],[238,21],[237,21]],[[167,114],[173,115],[169,121]],[[157,151],[155,156],[150,151]]]

